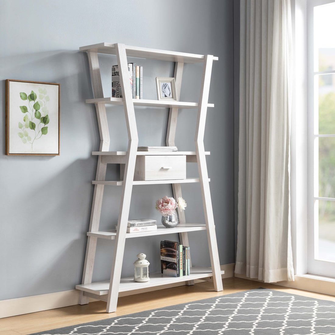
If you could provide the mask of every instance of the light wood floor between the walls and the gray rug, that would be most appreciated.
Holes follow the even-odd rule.
[[[179,286],[121,297],[118,301],[117,311],[109,314],[106,313],[106,303],[97,301],[89,303],[88,305],[75,305],[49,311],[3,318],[0,319],[0,335],[31,334],[155,308],[188,303],[199,299],[258,288],[260,286],[282,292],[335,301],[335,297],[332,295],[264,284],[241,278],[226,278],[223,279],[222,282],[222,292],[213,291],[213,284],[211,282],[202,282],[192,286]]]

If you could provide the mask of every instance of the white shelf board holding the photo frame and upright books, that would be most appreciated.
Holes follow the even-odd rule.
[[[106,104],[106,105],[122,105],[122,98],[98,98],[98,99],[86,99],[86,104]],[[188,103],[184,101],[175,100],[147,100],[147,99],[133,99],[134,106],[144,107],[162,107],[162,108],[182,108],[191,109],[198,108],[198,103]],[[207,104],[207,107],[214,107],[214,104]]]

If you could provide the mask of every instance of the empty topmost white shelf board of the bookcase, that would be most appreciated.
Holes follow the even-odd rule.
[[[149,48],[132,47],[126,45],[126,53],[128,57],[155,59],[158,61],[168,62],[182,62],[182,63],[201,63],[204,61],[204,55],[188,54],[177,51],[166,51]],[[116,55],[115,44],[112,43],[98,43],[80,47],[80,51],[97,52],[100,54]],[[217,61],[218,57],[213,57]]]

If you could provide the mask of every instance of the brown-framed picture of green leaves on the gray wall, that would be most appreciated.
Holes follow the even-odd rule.
[[[59,155],[59,84],[6,80],[6,155]]]

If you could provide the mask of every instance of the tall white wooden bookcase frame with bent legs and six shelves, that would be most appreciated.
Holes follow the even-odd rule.
[[[92,201],[92,210],[90,225],[87,232],[87,247],[84,262],[84,271],[82,284],[76,288],[81,291],[81,305],[87,304],[89,297],[107,302],[107,313],[115,312],[119,292],[143,289],[148,287],[173,284],[185,281],[187,285],[194,284],[194,279],[213,278],[214,290],[222,291],[219,256],[217,250],[215,225],[212,210],[212,202],[209,190],[209,178],[207,174],[206,157],[209,152],[204,149],[204,130],[207,108],[214,107],[208,104],[209,84],[212,71],[213,60],[217,57],[211,55],[196,55],[173,51],[155,50],[126,46],[124,44],[100,43],[81,47],[79,50],[87,51],[91,80],[93,86],[94,99],[87,99],[86,103],[95,104],[96,115],[100,133],[100,149],[92,152],[98,156],[97,171],[94,185],[94,194]],[[120,84],[123,98],[104,97],[100,77],[98,62],[98,53],[111,54],[117,56],[117,62],[120,68]],[[175,79],[177,96],[180,95],[182,73],[184,63],[201,63],[203,62],[203,74],[200,90],[199,103],[179,102],[174,100],[146,100],[133,99],[129,85],[128,57],[138,57],[155,59],[161,61],[175,62]],[[125,110],[127,131],[128,131],[128,149],[127,151],[109,151],[110,136],[106,116],[106,104],[123,105]],[[177,151],[177,152],[138,152],[138,136],[135,119],[134,106],[162,107],[169,108],[169,122],[167,126],[166,145],[175,145],[175,133],[177,126],[177,116],[179,108],[197,109],[197,126],[195,134],[196,151]],[[138,155],[185,155],[187,162],[196,162],[198,164],[199,178],[187,178],[177,180],[146,180],[134,181],[135,162]],[[125,164],[124,178],[121,181],[106,181],[106,167],[108,163]],[[187,223],[183,211],[179,211],[180,224],[175,228],[165,228],[158,226],[157,231],[140,232],[127,234],[127,221],[130,208],[130,199],[133,185],[143,184],[172,184],[173,195],[175,199],[182,196],[182,183],[200,183],[202,202],[205,213],[204,223]],[[122,198],[118,217],[118,230],[99,231],[100,212],[105,185],[122,186]],[[126,238],[136,238],[150,235],[165,235],[179,233],[180,242],[188,246],[188,231],[206,230],[208,238],[208,247],[211,260],[211,268],[191,267],[191,274],[185,277],[170,277],[161,273],[151,274],[150,281],[145,283],[135,282],[133,277],[121,278],[122,260]],[[97,239],[115,240],[114,259],[112,261],[112,272],[109,281],[92,283],[93,265]],[[157,253],[158,250],[157,250]]]

